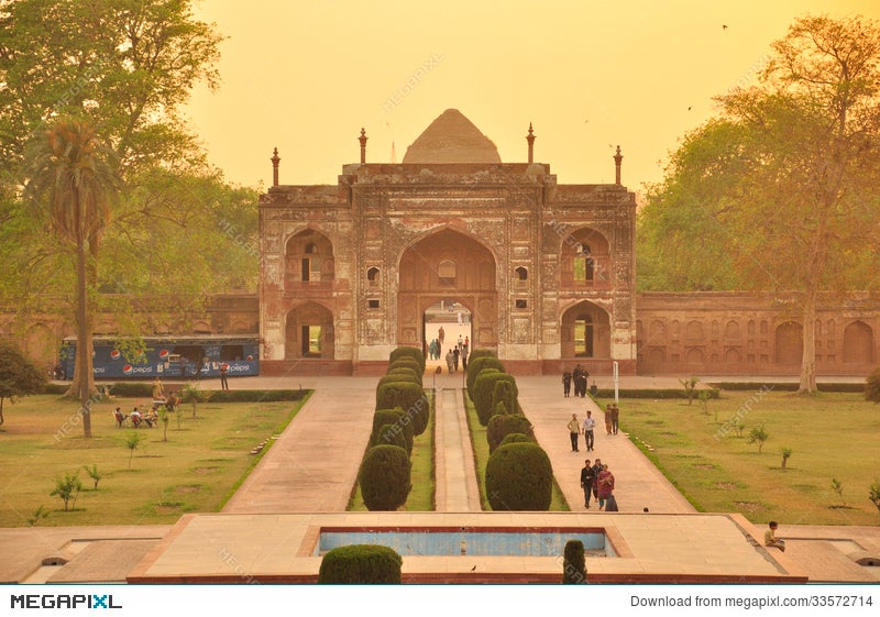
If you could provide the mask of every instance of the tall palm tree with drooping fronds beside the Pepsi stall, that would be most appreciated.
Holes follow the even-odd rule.
[[[40,130],[29,143],[26,161],[28,192],[46,209],[52,232],[76,258],[77,353],[67,396],[82,403],[82,430],[91,437],[89,399],[96,388],[89,290],[96,287],[97,256],[119,172],[96,125],[81,118],[56,119]]]

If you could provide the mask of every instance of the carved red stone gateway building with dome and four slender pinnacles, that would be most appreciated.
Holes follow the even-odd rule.
[[[426,344],[426,310],[453,299],[472,349],[512,371],[635,373],[632,192],[501,163],[455,110],[400,164],[365,163],[365,142],[336,186],[261,197],[264,372],[376,373],[394,348]]]

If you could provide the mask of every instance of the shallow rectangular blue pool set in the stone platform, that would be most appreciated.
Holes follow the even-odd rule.
[[[559,557],[569,540],[594,555],[615,557],[605,533],[570,531],[321,531],[316,555],[349,544],[380,544],[407,555]],[[464,551],[464,552],[462,552]]]

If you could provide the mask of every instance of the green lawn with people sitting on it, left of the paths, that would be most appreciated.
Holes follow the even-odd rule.
[[[308,397],[306,397],[307,399]],[[82,437],[75,403],[57,396],[6,401],[0,428],[0,527],[23,527],[41,506],[40,526],[173,524],[182,514],[218,511],[272,441],[301,407],[292,403],[202,403],[198,416],[182,406],[163,428],[119,429],[111,411],[143,399],[118,398],[92,406],[92,438]],[[177,414],[180,415],[178,423]],[[144,441],[133,451],[127,436]],[[261,454],[251,454],[270,440]],[[131,467],[129,467],[131,459]],[[97,465],[97,489],[84,465]],[[78,474],[82,491],[70,511],[51,496],[56,478]]]

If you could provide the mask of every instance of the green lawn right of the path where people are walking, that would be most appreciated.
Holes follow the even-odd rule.
[[[760,423],[769,439],[759,453],[748,434]],[[787,525],[880,524],[868,499],[880,477],[880,406],[860,394],[725,390],[705,408],[698,400],[622,399],[620,430],[702,511]],[[792,451],[787,469],[783,448]]]

